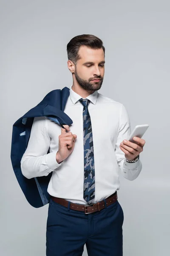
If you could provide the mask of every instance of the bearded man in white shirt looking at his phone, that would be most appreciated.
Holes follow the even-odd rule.
[[[124,140],[130,135],[124,105],[98,93],[105,73],[102,41],[78,35],[67,52],[73,84],[64,112],[73,124],[62,128],[45,116],[35,117],[22,173],[32,178],[53,172],[47,256],[80,256],[85,244],[89,256],[122,256],[119,171],[128,180],[138,177],[145,141]]]

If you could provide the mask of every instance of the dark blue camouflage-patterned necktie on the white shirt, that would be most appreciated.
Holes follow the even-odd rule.
[[[91,117],[88,112],[89,99],[79,99],[83,105],[83,131],[84,131],[84,195],[88,204],[94,199],[94,148],[91,127]]]

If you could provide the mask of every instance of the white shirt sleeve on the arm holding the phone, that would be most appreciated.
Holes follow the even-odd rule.
[[[139,173],[142,170],[142,163],[140,161],[140,156],[138,161],[136,161],[135,163],[128,163],[125,158],[125,153],[119,147],[120,143],[123,140],[125,139],[127,140],[127,138],[130,136],[130,133],[131,133],[130,119],[125,109],[125,106],[122,104],[122,107],[120,110],[120,119],[119,119],[119,131],[118,131],[118,137],[116,140],[116,148],[115,148],[116,160],[123,176],[127,180],[135,180],[139,176]]]

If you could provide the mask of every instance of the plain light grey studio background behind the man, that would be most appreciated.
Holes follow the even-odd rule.
[[[164,0],[0,2],[0,253],[45,256],[48,205],[31,207],[17,183],[12,125],[49,91],[70,87],[66,45],[80,34],[98,36],[106,48],[99,93],[125,105],[131,130],[150,125],[141,174],[133,181],[120,176],[124,256],[167,255],[170,3]]]

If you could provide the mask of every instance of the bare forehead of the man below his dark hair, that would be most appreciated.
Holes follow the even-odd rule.
[[[92,49],[87,46],[81,46],[79,48],[79,55],[81,59],[79,62],[85,62],[85,61],[104,61],[105,60],[105,54],[102,48],[100,49]]]

